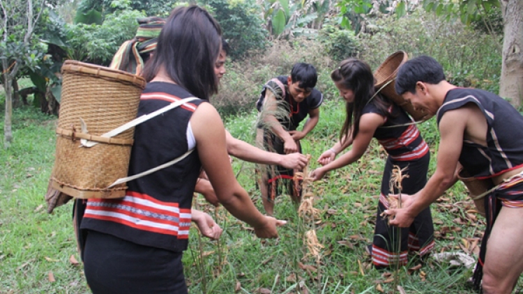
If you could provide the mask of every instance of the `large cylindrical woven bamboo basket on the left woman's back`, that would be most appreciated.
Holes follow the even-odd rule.
[[[110,139],[100,136],[136,118],[145,80],[79,61],[66,61],[61,71],[52,187],[82,199],[125,196],[125,183],[107,187],[127,176],[134,128]],[[81,139],[98,144],[84,147]]]

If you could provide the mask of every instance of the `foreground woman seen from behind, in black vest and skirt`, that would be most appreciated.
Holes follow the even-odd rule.
[[[197,99],[137,125],[129,173],[186,157],[128,182],[123,199],[89,199],[81,227],[88,230],[84,271],[93,293],[188,293],[181,258],[202,167],[220,203],[258,237],[277,237],[276,227],[285,223],[261,215],[229,163],[223,123],[208,101],[218,88],[213,69],[220,34],[219,24],[197,6],[173,10],[160,33],[144,68],[149,83],[138,116]]]

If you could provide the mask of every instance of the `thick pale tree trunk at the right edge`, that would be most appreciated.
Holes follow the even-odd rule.
[[[523,0],[501,0],[503,63],[499,95],[520,107],[523,101]]]

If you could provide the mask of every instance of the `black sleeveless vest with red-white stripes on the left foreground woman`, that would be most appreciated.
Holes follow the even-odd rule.
[[[139,102],[138,116],[149,114],[183,98],[192,97],[176,84],[151,82]],[[158,167],[177,157],[195,142],[189,120],[203,100],[193,100],[151,118],[135,128],[130,176]],[[201,163],[197,150],[180,162],[132,180],[123,199],[89,199],[82,229],[114,235],[139,245],[181,252],[187,248],[192,193]]]

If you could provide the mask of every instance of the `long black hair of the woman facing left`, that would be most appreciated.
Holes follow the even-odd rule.
[[[340,132],[340,141],[348,138],[351,132],[352,138],[356,138],[360,130],[360,118],[363,107],[368,103],[375,105],[381,113],[387,113],[390,102],[387,102],[381,95],[374,94],[374,75],[370,66],[358,59],[345,59],[338,68],[331,72],[331,79],[334,82],[341,82],[344,88],[354,92],[354,102],[345,104],[345,121]],[[372,99],[372,100],[371,100]],[[354,119],[354,121],[353,121]],[[354,130],[351,128],[354,126]]]

